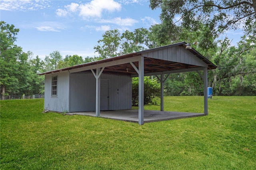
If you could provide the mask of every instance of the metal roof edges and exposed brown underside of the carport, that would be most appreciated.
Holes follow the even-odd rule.
[[[169,47],[179,46],[180,48],[185,48],[186,47],[185,44],[186,44],[186,42],[174,43],[174,44],[165,45],[162,47],[156,47],[156,48],[147,49],[144,51],[139,51],[139,52],[130,53],[130,54],[126,54],[126,55],[120,55],[117,57],[111,57],[111,58],[102,59],[99,61],[93,61],[90,63],[74,65],[71,67],[63,68],[63,69],[57,69],[57,70],[53,70],[53,71],[47,71],[44,73],[38,73],[37,75],[46,75],[46,74],[57,73],[59,71],[66,71],[66,70],[74,71],[74,69],[87,67],[87,66],[94,66],[94,65],[95,65],[95,69],[96,69],[97,65],[99,65],[99,64],[102,65],[104,63],[127,59],[130,57],[143,56],[144,53],[150,53],[152,51],[154,52],[154,51],[158,51],[160,49],[166,49]],[[217,68],[216,65],[214,65],[211,61],[209,61],[206,57],[201,55],[195,49],[192,48],[192,49],[187,49],[187,50],[190,51],[194,56],[198,57],[201,61],[206,63],[208,65],[208,69],[216,69]],[[136,67],[138,67],[138,61],[135,61],[133,63]],[[152,58],[152,57],[144,57],[144,73],[158,73],[158,72],[176,71],[176,70],[178,71],[178,70],[182,70],[182,69],[193,69],[193,68],[197,68],[197,67],[200,67],[200,66],[185,64],[185,63],[176,62],[176,61],[168,61],[168,60],[164,60],[164,59],[156,59],[156,58]],[[90,71],[90,69],[84,70],[84,71]],[[183,72],[183,71],[180,71],[180,72]],[[119,74],[119,75],[136,75],[137,74],[137,72],[134,70],[134,68],[132,67],[132,65],[129,62],[105,67],[103,73]]]

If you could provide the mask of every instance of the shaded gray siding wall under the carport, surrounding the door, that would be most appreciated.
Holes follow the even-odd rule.
[[[109,79],[109,110],[131,109],[132,78],[129,76],[102,74]],[[118,93],[117,93],[118,89]],[[95,111],[96,79],[92,73],[70,74],[70,112]]]

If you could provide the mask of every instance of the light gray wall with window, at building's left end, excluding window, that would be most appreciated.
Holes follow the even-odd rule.
[[[51,96],[52,75],[58,75],[57,97]],[[44,110],[69,112],[69,72],[45,75]]]

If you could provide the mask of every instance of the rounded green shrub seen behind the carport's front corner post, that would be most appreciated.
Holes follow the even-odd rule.
[[[138,106],[139,103],[139,79],[132,78],[132,105]],[[152,99],[160,95],[160,83],[151,77],[144,77],[144,105],[153,104]]]

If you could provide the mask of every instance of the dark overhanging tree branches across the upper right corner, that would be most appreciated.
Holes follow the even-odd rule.
[[[162,32],[174,34],[172,37],[180,33],[178,25],[194,32],[204,24],[214,39],[225,30],[239,28],[241,22],[248,34],[256,33],[255,0],[150,0],[150,7],[162,9]],[[176,17],[180,17],[178,21],[174,21]]]

